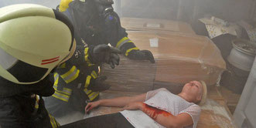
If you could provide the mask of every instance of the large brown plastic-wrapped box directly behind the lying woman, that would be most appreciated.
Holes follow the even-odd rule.
[[[107,66],[102,71],[105,76],[111,77],[108,80],[113,86],[125,84],[123,89],[130,92],[141,90],[131,90],[137,83],[140,84],[135,88],[145,86],[145,91],[152,89],[152,81],[154,84],[180,84],[197,79],[215,85],[226,69],[220,50],[204,36],[176,32],[128,32],[128,37],[139,49],[151,51],[155,64],[122,58],[115,69]],[[157,39],[157,47],[150,45],[151,39]],[[118,86],[113,89],[122,91]]]

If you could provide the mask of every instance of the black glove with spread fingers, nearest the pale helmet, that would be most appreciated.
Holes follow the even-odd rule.
[[[93,46],[92,46],[93,47]],[[113,48],[109,45],[96,45],[90,49],[90,60],[95,64],[101,64],[101,62],[108,63],[112,69],[114,66],[119,65],[119,56],[120,50]]]

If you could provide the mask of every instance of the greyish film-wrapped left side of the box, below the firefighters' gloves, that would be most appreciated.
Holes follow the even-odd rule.
[[[120,64],[114,69],[104,65],[101,75],[108,76],[105,83],[113,91],[144,93],[153,89],[156,65],[149,61],[136,61],[120,56]]]

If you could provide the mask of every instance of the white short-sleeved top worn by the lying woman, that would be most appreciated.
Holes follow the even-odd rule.
[[[196,124],[200,118],[200,106],[195,103],[189,103],[185,99],[170,93],[164,88],[149,91],[144,103],[172,113],[173,116],[177,116],[180,113],[188,113],[192,117],[193,125],[186,127],[196,128]],[[124,110],[120,113],[136,128],[164,127],[155,122],[155,120],[152,120],[151,117],[141,110]]]

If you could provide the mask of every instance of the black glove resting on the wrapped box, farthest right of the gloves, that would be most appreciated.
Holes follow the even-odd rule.
[[[149,60],[150,62],[155,63],[152,52],[148,50],[132,50],[131,52],[129,52],[128,58],[135,60]]]

